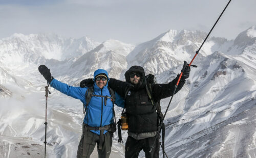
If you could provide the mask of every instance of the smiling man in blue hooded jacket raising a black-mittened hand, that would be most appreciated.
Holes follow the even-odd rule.
[[[119,107],[124,107],[124,101],[115,93],[115,98],[111,97],[108,88],[108,72],[98,69],[94,72],[94,84],[92,97],[88,103],[86,93],[89,87],[72,87],[57,81],[51,75],[50,69],[45,65],[38,67],[39,72],[45,77],[47,82],[54,89],[63,94],[79,99],[86,106],[86,115],[83,119],[83,134],[77,150],[77,158],[90,157],[97,143],[99,157],[109,157],[112,146],[113,131],[116,125],[114,116],[114,101]]]

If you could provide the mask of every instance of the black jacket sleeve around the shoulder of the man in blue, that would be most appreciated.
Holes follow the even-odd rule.
[[[115,92],[117,92],[121,97],[124,97],[125,91],[130,87],[126,82],[116,80],[115,78],[110,78],[108,85]]]

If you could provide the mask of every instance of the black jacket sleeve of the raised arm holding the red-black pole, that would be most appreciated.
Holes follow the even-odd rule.
[[[154,100],[160,100],[163,98],[167,98],[173,95],[175,90],[175,85],[179,79],[179,75],[174,78],[173,81],[169,82],[168,84],[152,84],[152,93]],[[185,80],[179,82],[179,85],[175,91],[175,94],[181,90],[183,85],[185,84]]]

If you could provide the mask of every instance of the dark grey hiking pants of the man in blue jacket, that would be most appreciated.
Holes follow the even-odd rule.
[[[109,158],[110,152],[111,152],[111,146],[112,146],[112,138],[113,138],[113,133],[111,131],[108,131],[107,133],[105,133],[104,134],[104,142],[102,144],[102,149],[99,150],[99,140],[100,140],[99,135],[92,133],[90,130],[84,131],[84,133],[82,134],[80,143],[78,145],[76,157],[77,158],[89,158],[94,150],[96,143],[97,143],[99,158]],[[83,139],[86,139],[86,144],[83,144]],[[86,145],[85,146],[86,155],[83,156],[82,151],[83,151],[84,145]]]

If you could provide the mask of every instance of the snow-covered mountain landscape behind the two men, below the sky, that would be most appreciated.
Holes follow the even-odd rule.
[[[89,37],[14,34],[0,40],[0,157],[44,157],[45,86],[38,66],[59,81],[79,86],[106,69],[124,80],[132,65],[168,83],[190,62],[206,33],[169,30],[139,45]],[[186,84],[165,118],[169,157],[256,157],[256,26],[234,40],[210,37],[193,62]],[[82,103],[53,88],[48,98],[47,157],[76,157]],[[170,98],[162,99],[165,112]],[[116,119],[122,109],[116,107]],[[111,157],[124,157],[114,134]],[[162,156],[162,150],[160,149]],[[97,151],[91,157],[97,157]],[[139,157],[144,157],[144,152]]]

